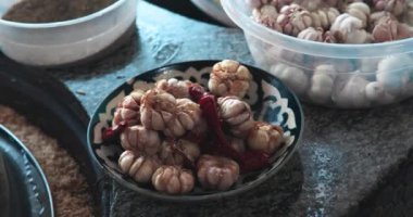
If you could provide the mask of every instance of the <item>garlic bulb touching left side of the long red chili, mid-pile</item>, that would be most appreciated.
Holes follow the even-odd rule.
[[[174,118],[167,124],[163,132],[167,137],[180,137],[188,130],[192,130],[200,122],[201,116],[202,111],[199,104],[189,99],[177,99]]]

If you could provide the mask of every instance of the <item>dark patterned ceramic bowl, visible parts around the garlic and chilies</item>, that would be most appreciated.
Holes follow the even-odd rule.
[[[132,78],[113,90],[92,115],[87,133],[90,153],[103,170],[118,183],[133,191],[150,197],[174,202],[218,200],[238,195],[253,190],[274,176],[297,149],[303,132],[303,113],[296,94],[279,79],[249,65],[246,66],[250,69],[253,80],[243,100],[251,105],[254,119],[280,125],[284,128],[287,145],[272,156],[270,167],[242,175],[229,190],[222,192],[204,191],[196,187],[191,193],[185,195],[160,193],[151,187],[137,183],[132,178],[122,175],[117,166],[118,156],[123,152],[122,146],[118,143],[102,143],[102,131],[111,125],[117,103],[134,89],[148,90],[153,87],[157,80],[172,77],[189,79],[206,87],[209,73],[216,62],[218,61],[192,61],[155,68]]]

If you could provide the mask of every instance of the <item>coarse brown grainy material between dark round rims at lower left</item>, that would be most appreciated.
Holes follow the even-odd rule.
[[[0,105],[0,124],[9,128],[35,155],[48,179],[55,215],[92,216],[91,196],[85,177],[68,153],[57,140],[12,108]]]

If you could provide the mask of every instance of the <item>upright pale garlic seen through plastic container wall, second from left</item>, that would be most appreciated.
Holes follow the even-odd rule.
[[[318,65],[311,78],[309,97],[313,102],[324,104],[331,98],[336,69],[334,65]]]

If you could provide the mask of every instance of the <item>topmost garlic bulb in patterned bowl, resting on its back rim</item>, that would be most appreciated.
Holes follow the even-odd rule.
[[[251,79],[252,76],[246,66],[236,61],[224,60],[212,67],[208,87],[215,95],[243,98],[250,88]]]

